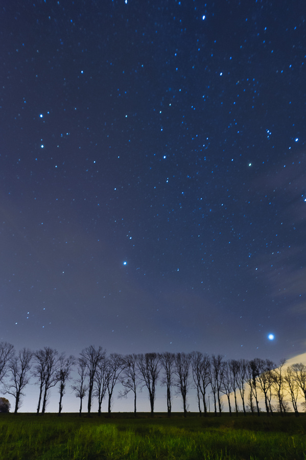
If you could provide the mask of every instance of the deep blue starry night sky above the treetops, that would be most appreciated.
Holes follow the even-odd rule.
[[[305,16],[2,2],[0,340],[305,352]]]

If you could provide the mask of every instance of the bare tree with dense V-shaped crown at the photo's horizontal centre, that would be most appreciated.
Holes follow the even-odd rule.
[[[141,353],[137,355],[137,365],[140,380],[148,388],[151,415],[153,417],[156,383],[160,372],[160,357],[157,353],[146,353],[145,355]]]

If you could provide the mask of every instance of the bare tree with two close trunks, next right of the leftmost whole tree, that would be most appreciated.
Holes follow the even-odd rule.
[[[34,359],[36,365],[33,375],[38,379],[39,383],[37,413],[39,413],[42,398],[41,413],[43,414],[48,401],[49,390],[57,384],[56,373],[60,366],[58,351],[49,347],[44,347],[44,349],[40,349],[34,353]]]

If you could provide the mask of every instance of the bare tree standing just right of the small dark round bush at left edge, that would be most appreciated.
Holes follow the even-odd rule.
[[[23,348],[18,352],[18,355],[10,357],[8,368],[11,372],[10,383],[5,385],[5,393],[12,395],[15,398],[15,410],[17,413],[21,405],[21,397],[24,396],[23,388],[28,385],[30,380],[31,359],[33,352]]]

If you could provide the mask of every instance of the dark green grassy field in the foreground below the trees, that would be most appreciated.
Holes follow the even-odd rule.
[[[0,414],[0,458],[305,459],[306,417]]]

